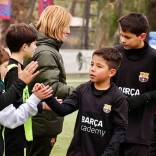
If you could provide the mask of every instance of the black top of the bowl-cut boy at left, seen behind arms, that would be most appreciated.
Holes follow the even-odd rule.
[[[9,63],[10,64],[16,64],[18,65],[19,62],[17,62],[16,60],[10,58],[9,59]],[[23,65],[21,64],[21,67],[23,68]],[[4,79],[5,82],[5,89],[6,91],[9,90],[9,88],[11,87],[11,85],[18,79],[18,68],[12,68],[10,69]],[[23,103],[23,91],[20,92],[19,94],[20,98],[19,100],[16,100],[13,105],[18,108],[22,103]],[[9,128],[5,128],[5,147],[6,150],[11,150],[12,148],[14,148],[14,150],[18,150],[23,148],[25,146],[25,133],[24,133],[24,126],[21,125],[15,129],[9,129]]]

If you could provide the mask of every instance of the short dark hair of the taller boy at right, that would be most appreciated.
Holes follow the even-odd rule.
[[[148,19],[141,13],[130,13],[119,18],[118,22],[123,32],[131,32],[137,36],[149,32]]]

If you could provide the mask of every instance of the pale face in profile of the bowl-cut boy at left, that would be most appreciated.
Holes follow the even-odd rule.
[[[37,48],[36,41],[32,42],[30,45],[24,44],[23,46],[24,46],[25,57],[31,58],[35,52],[35,49]]]

